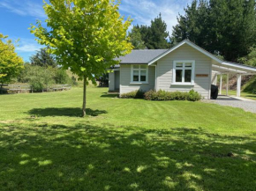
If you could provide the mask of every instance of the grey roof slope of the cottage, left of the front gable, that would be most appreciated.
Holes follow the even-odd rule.
[[[148,63],[155,57],[162,55],[162,53],[168,51],[168,49],[145,49],[145,50],[132,50],[132,53],[125,56],[120,56],[117,60],[121,60],[123,63]]]

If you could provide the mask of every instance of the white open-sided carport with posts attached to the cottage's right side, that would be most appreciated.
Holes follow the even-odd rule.
[[[226,95],[229,95],[229,84],[230,84],[230,75],[237,76],[237,97],[241,96],[241,84],[242,76],[245,75],[256,75],[256,68],[252,66],[247,66],[244,64],[236,62],[217,62],[213,60],[212,65],[212,84],[217,84],[217,79],[220,77],[220,87],[219,94],[222,94],[222,77],[227,75],[227,86],[226,86]]]

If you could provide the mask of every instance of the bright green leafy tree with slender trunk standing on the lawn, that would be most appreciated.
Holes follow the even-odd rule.
[[[48,28],[37,21],[31,32],[41,45],[56,55],[56,62],[84,80],[83,113],[86,115],[87,84],[131,52],[126,38],[131,19],[120,16],[116,0],[50,0],[44,3]]]

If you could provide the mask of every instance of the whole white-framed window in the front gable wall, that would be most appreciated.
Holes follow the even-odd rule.
[[[173,84],[194,84],[194,61],[173,62]]]

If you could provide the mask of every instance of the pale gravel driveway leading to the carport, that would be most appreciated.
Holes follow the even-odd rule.
[[[256,114],[256,101],[251,99],[243,99],[243,98],[234,98],[228,96],[219,96],[218,99],[214,100],[203,100],[203,102],[207,103],[215,103],[221,106],[228,107],[239,107],[244,109],[246,112],[252,112]]]

